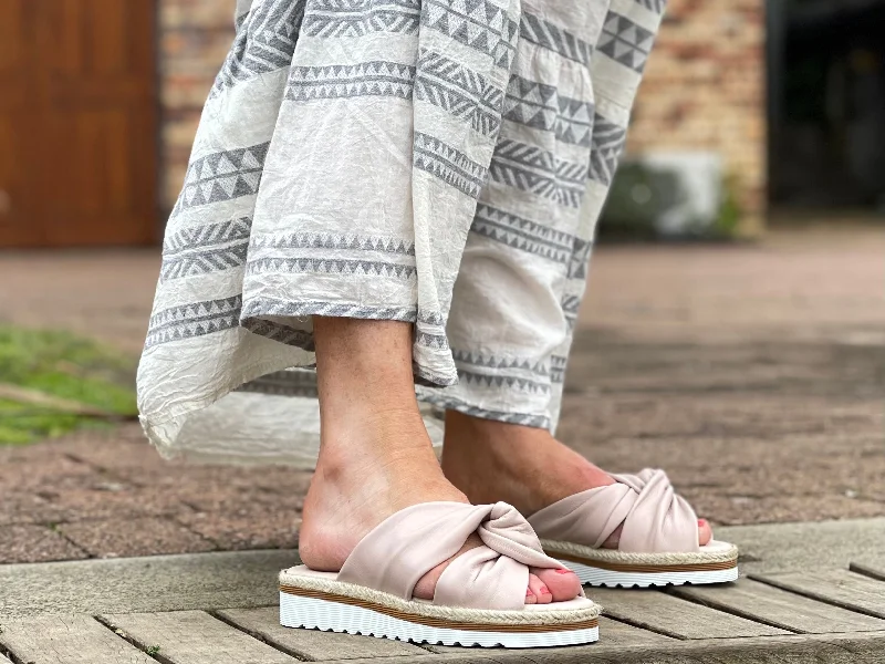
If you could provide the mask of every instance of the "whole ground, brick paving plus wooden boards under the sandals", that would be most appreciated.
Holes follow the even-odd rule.
[[[601,643],[553,651],[282,630],[310,474],[166,464],[127,425],[0,448],[0,664],[882,662],[883,255],[803,230],[594,259],[560,436],[667,468],[741,547],[737,584],[593,591]],[[137,353],[156,273],[153,251],[0,255],[0,323]]]

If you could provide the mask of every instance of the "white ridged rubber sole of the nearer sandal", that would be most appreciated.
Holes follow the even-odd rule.
[[[394,618],[365,606],[280,593],[280,624],[324,632],[345,632],[412,643],[481,647],[552,647],[592,643],[598,627],[551,632],[493,632],[435,627]]]

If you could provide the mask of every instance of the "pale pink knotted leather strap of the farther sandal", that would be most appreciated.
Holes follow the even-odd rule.
[[[698,551],[698,518],[663,470],[613,475],[616,484],[569,496],[529,517],[541,539],[600,548],[623,523],[618,551]]]

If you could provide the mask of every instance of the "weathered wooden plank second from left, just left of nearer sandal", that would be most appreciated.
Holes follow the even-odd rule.
[[[202,611],[102,616],[169,664],[293,664],[292,657]]]

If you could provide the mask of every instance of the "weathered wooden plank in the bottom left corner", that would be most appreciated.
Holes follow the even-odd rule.
[[[19,662],[156,664],[88,615],[53,615],[4,622],[0,644]]]

